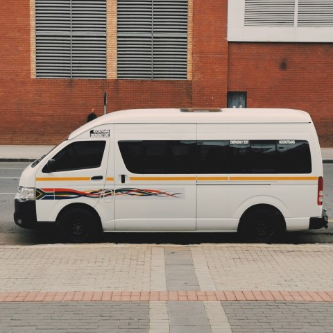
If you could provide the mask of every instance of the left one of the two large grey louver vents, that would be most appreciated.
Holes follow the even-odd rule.
[[[37,78],[106,77],[106,0],[35,0]]]

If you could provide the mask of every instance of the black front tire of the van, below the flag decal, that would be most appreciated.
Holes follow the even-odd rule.
[[[61,214],[58,221],[60,239],[69,243],[85,243],[96,239],[100,228],[96,216],[89,210],[75,207]]]

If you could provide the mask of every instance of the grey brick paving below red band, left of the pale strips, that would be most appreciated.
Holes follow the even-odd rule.
[[[0,303],[1,333],[133,332],[149,330],[148,302]]]

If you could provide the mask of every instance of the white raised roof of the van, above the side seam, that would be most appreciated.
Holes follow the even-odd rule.
[[[301,110],[278,108],[133,109],[114,111],[74,130],[69,139],[108,123],[311,123]]]

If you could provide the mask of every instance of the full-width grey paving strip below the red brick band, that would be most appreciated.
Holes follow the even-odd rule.
[[[0,302],[0,332],[333,332],[332,302],[151,303]]]

